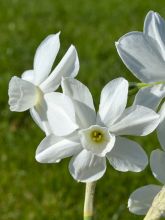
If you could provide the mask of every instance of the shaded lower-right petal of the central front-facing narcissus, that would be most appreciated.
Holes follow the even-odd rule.
[[[115,146],[106,156],[114,169],[122,172],[140,172],[148,164],[147,155],[140,145],[123,137],[116,138]]]

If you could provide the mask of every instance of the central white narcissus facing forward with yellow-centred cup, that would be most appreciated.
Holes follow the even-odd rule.
[[[126,108],[125,79],[112,80],[103,88],[97,114],[91,93],[81,82],[65,78],[62,88],[64,94],[45,95],[48,121],[54,134],[38,146],[38,162],[56,163],[73,156],[69,171],[81,182],[101,178],[106,171],[106,158],[122,172],[140,172],[146,167],[144,150],[120,135],[151,133],[159,123],[159,115],[143,106]]]

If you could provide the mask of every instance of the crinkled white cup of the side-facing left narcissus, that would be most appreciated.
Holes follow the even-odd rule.
[[[12,77],[9,82],[9,105],[11,111],[22,112],[33,107],[38,98],[37,87],[32,83]]]

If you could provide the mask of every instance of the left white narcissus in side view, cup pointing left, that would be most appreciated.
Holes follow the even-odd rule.
[[[12,77],[8,90],[10,110],[22,112],[30,109],[34,121],[47,134],[50,133],[50,127],[47,123],[44,94],[57,90],[62,77],[75,77],[79,71],[78,55],[71,45],[51,72],[60,48],[59,34],[49,35],[39,45],[34,56],[33,70],[25,71],[21,78]]]

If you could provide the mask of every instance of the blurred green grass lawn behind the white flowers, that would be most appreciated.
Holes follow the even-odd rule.
[[[28,112],[10,112],[10,78],[32,68],[36,47],[61,30],[57,62],[73,43],[80,59],[78,79],[90,88],[96,106],[102,87],[123,76],[136,81],[116,52],[114,42],[132,30],[142,30],[149,10],[165,17],[164,0],[1,0],[0,1],[0,219],[82,219],[84,184],[69,175],[68,159],[39,164],[35,150],[44,134]],[[56,63],[57,63],[56,62]],[[159,146],[156,134],[134,138],[151,152]],[[127,209],[129,194],[139,186],[157,183],[151,172],[120,173],[110,165],[96,189],[96,220],[135,220]]]

